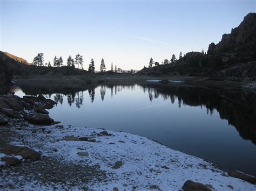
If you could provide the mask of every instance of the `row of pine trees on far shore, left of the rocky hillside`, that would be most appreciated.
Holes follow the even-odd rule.
[[[69,56],[66,61],[66,65],[73,69],[76,68],[76,66],[78,69],[79,69],[79,66],[80,66],[80,69],[84,69],[83,62],[84,62],[83,55],[77,54],[75,60],[72,59],[71,56]],[[38,53],[37,56],[33,59],[32,65],[51,67],[50,61],[48,63],[44,63],[44,53]],[[53,59],[53,66],[54,67],[62,67],[63,66],[62,56],[60,56],[59,58],[57,58],[57,56],[55,56],[55,58]],[[102,61],[100,62],[100,72],[105,72],[105,71],[106,71],[106,65],[105,65],[104,59],[102,59]],[[115,72],[115,73],[124,73],[125,72],[123,69],[117,68],[117,65],[113,69],[113,62],[111,62],[111,71]],[[92,72],[92,73],[95,72],[95,62],[93,59],[91,59],[91,62],[89,64],[88,72]],[[131,69],[130,71],[128,70],[127,73],[135,74],[135,70],[134,69]]]

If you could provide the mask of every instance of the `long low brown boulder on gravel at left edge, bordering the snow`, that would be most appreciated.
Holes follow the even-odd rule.
[[[37,161],[41,158],[40,153],[26,146],[9,145],[8,147],[3,148],[1,152],[6,155],[21,155],[24,159],[31,161]]]

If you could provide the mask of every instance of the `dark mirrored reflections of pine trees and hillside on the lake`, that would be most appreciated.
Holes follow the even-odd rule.
[[[45,97],[53,98],[54,101],[63,104],[64,95],[68,104],[75,104],[81,108],[84,103],[84,92],[88,91],[91,103],[95,100],[98,86],[87,86],[83,90],[63,88],[43,88],[21,87],[28,95],[38,95],[42,93]],[[242,93],[238,90],[226,91],[223,89],[199,88],[191,86],[164,86],[162,84],[141,84],[139,85],[148,94],[150,102],[154,99],[162,98],[164,101],[170,100],[170,104],[178,101],[178,107],[200,106],[206,108],[207,114],[212,115],[216,110],[221,119],[227,119],[228,124],[233,125],[244,139],[249,139],[256,144],[256,101],[254,94]],[[110,91],[111,98],[123,90],[134,90],[135,84],[129,86],[101,85],[99,86],[101,100],[104,101],[106,91]],[[53,97],[52,97],[53,95]]]

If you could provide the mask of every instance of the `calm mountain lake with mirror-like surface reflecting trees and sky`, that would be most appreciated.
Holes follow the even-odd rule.
[[[58,102],[50,117],[63,125],[118,130],[148,137],[224,169],[256,175],[256,100],[241,90],[183,83],[14,86],[16,95]]]

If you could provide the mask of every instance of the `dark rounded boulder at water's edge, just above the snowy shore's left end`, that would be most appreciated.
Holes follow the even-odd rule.
[[[50,125],[53,122],[53,119],[49,115],[45,114],[25,114],[24,119],[30,123],[37,125]]]

